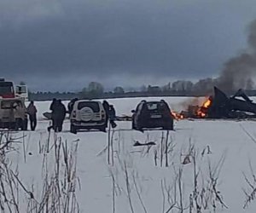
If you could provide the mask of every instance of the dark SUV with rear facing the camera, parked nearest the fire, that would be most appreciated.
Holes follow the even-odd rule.
[[[132,129],[143,130],[162,128],[173,130],[173,117],[166,101],[141,101],[136,110],[132,110]]]

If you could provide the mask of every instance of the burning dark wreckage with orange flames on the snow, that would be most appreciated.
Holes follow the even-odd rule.
[[[214,87],[214,95],[209,96],[201,107],[189,106],[187,111],[172,114],[175,118],[256,118],[256,103],[242,89],[228,97]]]

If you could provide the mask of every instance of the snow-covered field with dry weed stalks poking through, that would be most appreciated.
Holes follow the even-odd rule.
[[[163,99],[173,109],[180,110],[189,98]],[[121,115],[130,114],[141,100],[132,98],[109,102]],[[49,104],[49,101],[36,102],[39,117],[37,131],[15,133],[14,137],[25,135],[25,138],[14,145],[18,152],[10,153],[12,166],[16,168],[18,165],[20,180],[27,188],[33,185],[37,199],[42,193],[44,160],[48,158],[48,170],[55,167],[55,164],[51,164],[55,153],[53,145],[54,141],[61,140],[67,141],[70,148],[75,144],[79,147],[76,196],[80,212],[168,212],[172,204],[169,212],[189,212],[192,203],[194,209],[190,212],[196,212],[195,193],[198,203],[202,206],[202,200],[208,206],[207,210],[202,208],[201,212],[214,212],[214,204],[217,206],[215,212],[256,212],[256,200],[243,209],[246,200],[243,189],[248,193],[253,191],[243,173],[256,185],[249,163],[256,174],[254,121],[180,120],[175,122],[175,131],[170,131],[169,135],[162,130],[141,133],[131,130],[131,122],[118,122],[117,129],[110,132],[113,155],[110,150],[111,165],[108,165],[108,133],[91,131],[73,135],[68,131],[67,120],[63,132],[56,135],[51,132],[49,135],[46,130],[49,121],[42,116],[43,112],[48,111]],[[48,141],[49,153],[44,153],[42,149]],[[133,147],[136,141],[155,142],[156,145]],[[182,164],[186,157],[191,162]],[[198,173],[196,184],[194,172]],[[213,192],[212,183],[216,184],[217,194]],[[189,201],[190,194],[194,194],[193,202]],[[218,202],[216,195],[224,202],[223,205]],[[200,196],[204,199],[200,199]]]

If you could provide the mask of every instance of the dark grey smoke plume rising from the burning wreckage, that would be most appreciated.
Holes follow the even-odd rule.
[[[256,77],[256,20],[248,27],[247,49],[224,63],[218,78],[201,79],[194,85],[195,91],[212,91],[213,86],[232,92],[237,89],[254,89]]]

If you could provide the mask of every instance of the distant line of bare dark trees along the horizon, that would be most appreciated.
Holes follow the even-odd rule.
[[[208,79],[210,81],[211,78]],[[140,89],[129,89],[125,91],[121,86],[117,86],[113,91],[105,91],[102,83],[90,82],[88,87],[84,87],[80,92],[29,92],[31,101],[49,101],[53,98],[61,100],[71,100],[75,97],[79,99],[109,99],[123,97],[148,97],[148,96],[206,96],[213,91],[212,82],[192,83],[191,81],[176,81],[167,83],[164,86],[143,85]],[[225,91],[228,95],[236,92]],[[256,96],[255,89],[247,89],[246,94]]]

